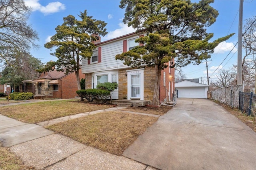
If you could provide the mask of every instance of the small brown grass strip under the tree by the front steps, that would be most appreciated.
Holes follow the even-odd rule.
[[[138,106],[133,106],[133,107],[127,107],[125,111],[134,111],[134,112],[140,112],[140,113],[148,113],[148,114],[153,114],[153,115],[164,115],[167,111],[172,109],[171,106],[160,106],[160,107],[151,107],[151,106],[144,106],[144,107],[138,107]]]

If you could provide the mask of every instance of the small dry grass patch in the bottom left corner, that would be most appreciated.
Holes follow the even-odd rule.
[[[24,166],[22,160],[10,152],[9,148],[0,146],[0,170],[35,170],[35,168]]]

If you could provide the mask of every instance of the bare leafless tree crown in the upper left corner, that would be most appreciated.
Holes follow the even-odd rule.
[[[27,23],[31,9],[24,0],[0,0],[0,60],[7,64],[10,54],[28,51],[38,34]]]

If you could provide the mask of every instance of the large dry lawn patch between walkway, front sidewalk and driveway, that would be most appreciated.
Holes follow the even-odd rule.
[[[91,147],[121,155],[158,118],[122,111],[98,113],[46,128]]]

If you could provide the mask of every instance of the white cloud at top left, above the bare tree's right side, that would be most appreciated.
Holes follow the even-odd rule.
[[[33,11],[38,10],[38,11],[42,12],[44,15],[52,14],[52,13],[59,12],[61,10],[66,9],[65,5],[58,1],[50,2],[46,6],[42,6],[39,3],[39,0],[25,0],[25,3],[28,7],[31,7]]]

